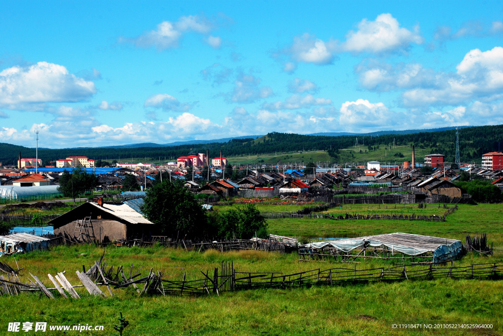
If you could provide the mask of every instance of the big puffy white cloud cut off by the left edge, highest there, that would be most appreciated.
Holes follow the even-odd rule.
[[[95,93],[92,81],[78,78],[54,63],[38,62],[0,72],[0,105],[11,109],[23,104],[82,101]]]

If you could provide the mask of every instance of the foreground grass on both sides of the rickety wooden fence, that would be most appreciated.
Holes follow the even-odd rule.
[[[103,249],[92,246],[55,248],[19,256],[22,281],[28,271],[49,285],[47,273],[67,270],[72,284],[79,281],[75,270],[86,268],[99,259]],[[84,253],[84,256],[80,254]],[[206,253],[163,248],[110,248],[106,261],[112,265],[134,263],[159,269],[166,278],[199,278],[199,271],[232,260],[237,271],[282,271],[293,273],[314,268],[338,267],[340,264],[297,261],[296,254],[267,252]],[[3,258],[4,259],[4,258]],[[459,264],[496,261],[494,258],[465,257]],[[498,261],[500,261],[498,259]],[[3,262],[15,265],[12,257]],[[369,262],[359,268],[376,266]],[[142,273],[142,274],[143,274]],[[200,274],[200,273],[199,273]],[[44,321],[56,324],[105,325],[102,332],[83,331],[83,335],[111,335],[119,312],[130,322],[124,335],[405,335],[472,334],[459,330],[412,331],[392,329],[392,323],[467,322],[500,320],[503,314],[503,282],[451,279],[400,283],[375,283],[309,289],[243,290],[203,297],[145,296],[132,289],[114,290],[112,298],[90,297],[77,288],[82,299],[49,300],[38,294],[6,296],[0,325],[11,321]],[[473,295],[483,293],[483,295]],[[23,309],[13,309],[23,307]],[[49,335],[63,334],[48,331]],[[71,334],[68,332],[67,334]],[[500,333],[487,333],[500,334]]]

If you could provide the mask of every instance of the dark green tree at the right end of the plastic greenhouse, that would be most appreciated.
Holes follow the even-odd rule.
[[[65,197],[75,197],[91,192],[98,185],[98,177],[94,173],[86,173],[81,168],[73,168],[71,173],[66,169],[59,178],[58,191]]]

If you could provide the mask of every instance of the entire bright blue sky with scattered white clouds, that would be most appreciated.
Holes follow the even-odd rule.
[[[3,2],[0,142],[503,124],[501,2]]]

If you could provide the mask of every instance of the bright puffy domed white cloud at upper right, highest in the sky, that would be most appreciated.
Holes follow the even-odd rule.
[[[412,43],[422,44],[423,41],[417,27],[411,32],[400,28],[398,21],[391,14],[381,14],[375,21],[363,19],[358,24],[358,31],[348,32],[343,48],[354,53],[382,53],[403,50]]]

